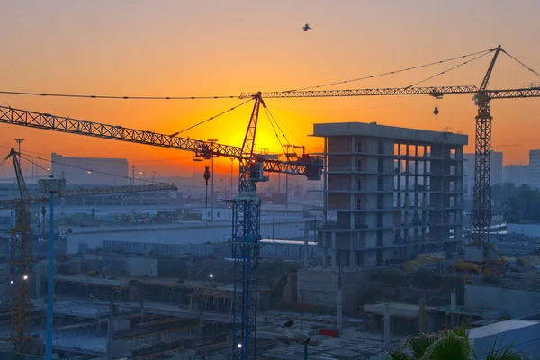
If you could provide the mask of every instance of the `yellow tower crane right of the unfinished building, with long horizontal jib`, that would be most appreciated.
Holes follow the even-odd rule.
[[[484,261],[489,259],[491,226],[491,100],[540,97],[540,87],[491,90],[488,89],[491,73],[500,52],[507,53],[500,46],[490,49],[493,53],[490,66],[483,77],[482,84],[465,86],[401,87],[356,90],[299,90],[262,93],[263,98],[299,97],[341,97],[341,96],[390,96],[427,94],[440,99],[445,94],[474,94],[478,106],[476,115],[474,146],[474,187],[473,187],[473,236],[470,244],[483,247]],[[507,53],[508,54],[508,53]],[[522,64],[523,65],[523,64]],[[529,69],[531,70],[531,69]],[[531,70],[532,71],[532,70]],[[243,93],[240,98],[259,94]],[[436,112],[437,108],[436,108]],[[436,115],[437,115],[436,113]]]

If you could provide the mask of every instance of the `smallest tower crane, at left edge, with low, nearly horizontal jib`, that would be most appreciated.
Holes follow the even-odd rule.
[[[17,353],[26,353],[31,344],[31,273],[32,257],[31,202],[48,202],[49,193],[30,193],[23,177],[20,153],[13,148],[5,159],[12,158],[19,192],[18,199],[0,201],[0,210],[14,209],[15,226],[11,230],[10,273],[11,273],[11,331],[10,340]],[[175,184],[148,184],[138,186],[101,187],[67,190],[59,197],[141,193],[177,190]]]

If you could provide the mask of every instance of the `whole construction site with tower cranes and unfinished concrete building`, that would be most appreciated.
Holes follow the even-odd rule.
[[[461,326],[480,349],[503,325],[540,353],[540,336],[520,335],[540,335],[540,238],[492,224],[490,184],[491,101],[540,97],[540,87],[491,89],[497,58],[509,54],[483,55],[491,63],[479,86],[240,94],[252,105],[240,147],[0,106],[3,128],[187,151],[211,164],[199,175],[204,195],[188,201],[176,184],[136,184],[135,167],[108,174],[129,171],[121,159],[98,171],[53,154],[52,166],[82,179],[101,172],[98,187],[72,184],[18,141],[0,164],[13,165],[17,195],[0,200],[0,358],[382,359],[411,336]],[[256,147],[259,112],[274,119],[266,99],[446,94],[473,95],[477,106],[472,229],[470,139],[449,128],[318,123],[321,152],[285,136],[283,154]],[[216,157],[239,169],[219,204]],[[48,176],[30,184],[22,161]],[[314,190],[262,201],[272,175]]]

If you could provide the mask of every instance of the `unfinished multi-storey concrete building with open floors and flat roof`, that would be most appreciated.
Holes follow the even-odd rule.
[[[336,213],[318,235],[331,266],[458,250],[467,136],[362,122],[315,124],[313,135],[324,138],[325,207]]]

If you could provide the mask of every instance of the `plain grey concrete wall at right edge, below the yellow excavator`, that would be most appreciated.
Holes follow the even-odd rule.
[[[490,308],[512,318],[519,318],[540,310],[540,292],[465,285],[465,306]]]

